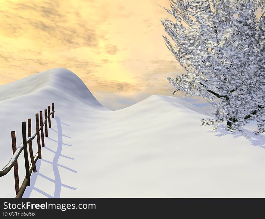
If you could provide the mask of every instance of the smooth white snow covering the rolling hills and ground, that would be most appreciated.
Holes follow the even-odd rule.
[[[12,157],[11,131],[54,103],[55,118],[37,173],[23,197],[264,197],[264,140],[200,126],[204,114],[181,98],[153,95],[108,110],[70,70],[55,68],[0,86],[0,167]],[[249,128],[251,132],[251,127]],[[33,153],[37,152],[36,138]],[[20,185],[24,159],[18,159]],[[14,172],[0,178],[14,197]]]

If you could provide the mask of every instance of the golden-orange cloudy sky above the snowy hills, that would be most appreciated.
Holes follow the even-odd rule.
[[[171,96],[185,73],[164,44],[169,0],[0,0],[0,85],[55,67],[117,110]]]

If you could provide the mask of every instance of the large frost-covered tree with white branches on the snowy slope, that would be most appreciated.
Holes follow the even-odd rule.
[[[171,0],[176,22],[161,22],[176,43],[165,44],[186,70],[168,77],[176,91],[205,98],[215,119],[228,131],[241,131],[251,120],[265,131],[265,0]],[[256,16],[260,11],[261,16]]]

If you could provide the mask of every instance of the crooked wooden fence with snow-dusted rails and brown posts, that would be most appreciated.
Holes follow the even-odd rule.
[[[11,157],[8,164],[0,171],[0,177],[5,176],[12,169],[12,167],[14,167],[16,198],[21,198],[23,196],[24,191],[26,190],[26,187],[30,186],[30,176],[31,176],[32,171],[34,173],[37,172],[36,162],[38,159],[42,158],[41,146],[45,147],[43,127],[45,126],[45,137],[47,138],[48,137],[48,125],[49,125],[49,128],[51,128],[51,115],[52,115],[52,118],[54,118],[54,113],[55,113],[54,104],[51,104],[51,112],[50,112],[50,106],[48,106],[48,111],[47,109],[44,110],[44,119],[42,117],[42,111],[40,111],[39,113],[36,113],[35,115],[36,131],[33,133],[33,135],[31,134],[31,119],[28,119],[28,138],[27,138],[27,133],[26,133],[26,122],[22,122],[23,142],[20,144],[18,148],[17,148],[17,143],[16,143],[16,133],[15,131],[11,131],[13,156]],[[32,140],[36,136],[37,136],[38,152],[34,156],[33,149],[32,149]],[[41,139],[42,144],[40,143],[40,139]],[[31,161],[30,165],[29,165],[27,144],[29,145],[30,161]],[[25,179],[21,187],[19,187],[17,158],[19,157],[22,151],[24,152],[26,176],[25,176]]]

